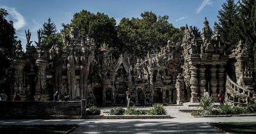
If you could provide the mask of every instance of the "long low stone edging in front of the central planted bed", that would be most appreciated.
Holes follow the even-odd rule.
[[[86,119],[172,119],[170,115],[88,115]]]

